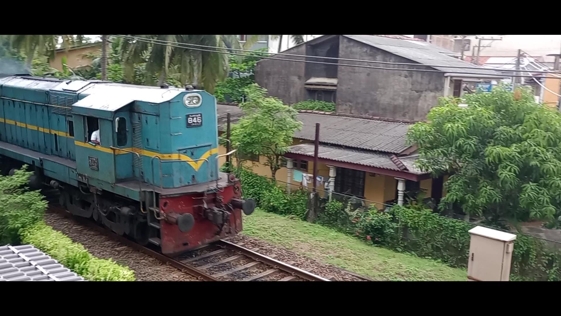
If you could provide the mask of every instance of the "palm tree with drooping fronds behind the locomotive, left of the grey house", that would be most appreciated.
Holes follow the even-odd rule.
[[[132,79],[134,65],[146,62],[146,83],[153,83],[154,76],[159,75],[158,84],[162,84],[170,73],[174,73],[181,84],[202,84],[211,93],[214,92],[217,80],[223,80],[228,74],[228,55],[222,52],[226,52],[228,48],[240,47],[236,35],[130,36],[140,40],[123,39],[121,42],[125,76],[128,80]],[[165,45],[166,43],[170,45]],[[203,48],[210,51],[200,51],[196,47],[187,48],[185,44],[218,48]]]

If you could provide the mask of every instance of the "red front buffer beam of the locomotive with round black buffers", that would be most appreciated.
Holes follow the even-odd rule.
[[[240,180],[232,174],[225,186],[205,192],[160,196],[160,239],[164,254],[178,254],[242,231],[242,211],[249,215],[255,202],[242,200]]]

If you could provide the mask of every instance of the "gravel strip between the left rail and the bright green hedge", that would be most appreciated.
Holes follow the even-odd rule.
[[[181,272],[177,268],[122,245],[64,215],[47,211],[45,222],[57,231],[65,233],[73,241],[84,245],[92,255],[103,259],[112,258],[117,263],[133,269],[136,281],[198,281],[195,277]]]

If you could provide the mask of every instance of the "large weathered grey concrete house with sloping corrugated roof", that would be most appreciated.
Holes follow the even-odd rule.
[[[323,35],[283,53],[294,56],[257,62],[256,82],[285,104],[330,101],[344,114],[424,120],[439,97],[459,96],[463,83],[504,78],[402,35]]]

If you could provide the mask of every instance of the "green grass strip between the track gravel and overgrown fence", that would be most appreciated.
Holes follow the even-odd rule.
[[[319,224],[256,209],[243,234],[379,281],[466,281],[466,270],[376,247]]]

